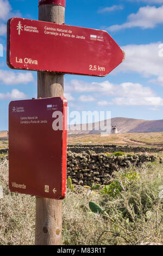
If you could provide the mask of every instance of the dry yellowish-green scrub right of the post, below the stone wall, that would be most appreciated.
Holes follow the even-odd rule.
[[[132,168],[132,167],[131,167]],[[84,189],[79,194],[69,192],[64,200],[63,242],[65,245],[139,245],[141,242],[163,243],[163,202],[159,199],[162,164],[147,163],[137,172],[141,179],[131,183],[120,195]],[[124,170],[115,173],[122,179]],[[89,201],[102,206],[109,217],[93,214]]]

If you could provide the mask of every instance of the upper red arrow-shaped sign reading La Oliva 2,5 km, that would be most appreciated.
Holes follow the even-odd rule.
[[[12,69],[106,76],[124,52],[106,31],[12,18],[7,62]]]

